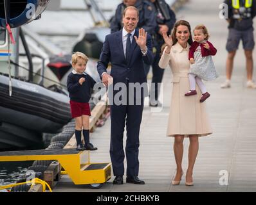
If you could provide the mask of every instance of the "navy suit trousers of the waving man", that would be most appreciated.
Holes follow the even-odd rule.
[[[139,134],[142,122],[143,98],[141,105],[111,105],[110,156],[114,176],[123,176],[123,160],[126,155],[127,176],[138,176],[139,172]],[[125,123],[126,121],[126,123]],[[127,139],[125,155],[123,151],[123,131],[126,125]]]

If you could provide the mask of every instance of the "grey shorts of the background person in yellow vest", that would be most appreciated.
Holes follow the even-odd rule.
[[[226,42],[226,50],[228,52],[235,51],[239,47],[239,42],[242,40],[244,50],[253,50],[255,42],[253,36],[253,28],[246,31],[238,31],[230,28],[228,31],[228,41]]]

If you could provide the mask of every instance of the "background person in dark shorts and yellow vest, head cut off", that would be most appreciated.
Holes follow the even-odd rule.
[[[255,45],[253,37],[253,18],[256,15],[255,0],[225,0],[228,5],[228,41],[226,50],[226,81],[221,84],[221,88],[230,88],[233,70],[233,60],[238,49],[239,42],[242,40],[244,54],[246,56],[247,88],[256,88],[253,83],[253,56],[252,51]]]

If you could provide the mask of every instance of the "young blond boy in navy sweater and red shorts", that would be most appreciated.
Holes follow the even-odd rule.
[[[91,116],[91,112],[88,102],[91,98],[91,88],[96,82],[84,72],[88,60],[84,53],[74,53],[72,55],[73,70],[68,75],[67,80],[71,115],[72,118],[75,118],[75,138],[78,151],[97,149],[89,142],[89,116]],[[84,145],[81,141],[81,132],[84,135]]]

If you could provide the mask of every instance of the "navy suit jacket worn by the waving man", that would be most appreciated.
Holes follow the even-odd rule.
[[[135,30],[134,35],[138,37],[138,29]],[[109,62],[111,62],[111,76],[114,83],[145,83],[147,78],[144,71],[143,61],[147,64],[152,64],[154,56],[152,54],[152,40],[151,36],[147,35],[147,54],[143,56],[140,47],[136,44],[133,37],[131,44],[129,61],[125,59],[123,53],[122,30],[111,33],[105,37],[105,42],[100,54],[100,61],[98,61],[97,69],[100,78]]]

